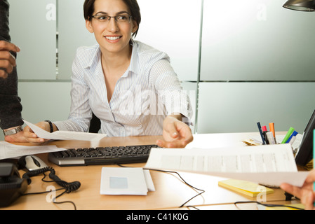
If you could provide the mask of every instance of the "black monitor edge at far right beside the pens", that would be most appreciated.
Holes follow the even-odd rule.
[[[304,130],[302,142],[295,156],[299,166],[306,166],[313,159],[313,130],[315,129],[315,111]]]

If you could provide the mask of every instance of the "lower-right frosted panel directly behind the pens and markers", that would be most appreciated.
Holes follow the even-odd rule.
[[[198,133],[304,131],[315,108],[315,83],[200,83]]]

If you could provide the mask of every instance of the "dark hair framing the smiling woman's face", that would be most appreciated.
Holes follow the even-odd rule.
[[[131,16],[133,20],[137,23],[138,29],[133,33],[133,37],[137,36],[140,22],[141,22],[141,13],[140,13],[140,7],[138,5],[137,0],[122,0],[129,8]],[[83,5],[83,11],[84,11],[84,19],[85,20],[92,20],[92,16],[94,13],[94,3],[95,0],[85,0]]]

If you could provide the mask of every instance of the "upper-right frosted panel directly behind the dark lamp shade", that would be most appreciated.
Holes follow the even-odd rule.
[[[205,0],[201,80],[315,80],[315,15],[284,0]]]

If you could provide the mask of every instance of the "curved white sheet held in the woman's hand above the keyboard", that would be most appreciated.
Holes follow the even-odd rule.
[[[33,132],[42,139],[51,139],[51,140],[80,140],[80,141],[100,141],[100,139],[105,138],[106,134],[95,134],[95,133],[86,133],[86,132],[66,132],[66,131],[57,131],[57,132],[46,132],[40,127],[29,123],[24,120],[25,124],[28,125]]]

